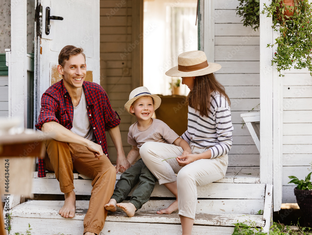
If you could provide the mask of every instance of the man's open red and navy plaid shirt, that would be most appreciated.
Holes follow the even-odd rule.
[[[85,92],[88,117],[96,138],[95,143],[100,144],[103,153],[109,157],[105,130],[119,125],[119,115],[111,108],[108,96],[99,84],[84,81],[82,87]],[[41,130],[43,123],[54,121],[70,130],[73,127],[73,117],[73,103],[61,80],[43,93],[36,128]],[[46,177],[43,159],[39,159],[38,177]]]

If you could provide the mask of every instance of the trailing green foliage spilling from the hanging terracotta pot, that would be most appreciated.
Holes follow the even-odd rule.
[[[295,68],[308,68],[312,76],[311,49],[312,49],[312,6],[308,0],[294,0],[293,6],[286,5],[283,1],[273,0],[270,6],[264,4],[261,13],[273,17],[273,29],[280,31],[280,36],[275,42],[268,44],[273,47],[278,44],[272,65],[277,64],[279,76],[282,70]],[[293,16],[287,15],[293,13]]]

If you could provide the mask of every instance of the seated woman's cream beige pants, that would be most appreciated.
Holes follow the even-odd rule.
[[[199,154],[207,151],[209,147],[191,146],[191,149],[193,154]],[[177,181],[179,215],[195,219],[197,186],[223,178],[227,171],[228,157],[225,154],[212,159],[199,159],[180,167],[174,157],[181,156],[182,153],[181,147],[159,142],[147,142],[140,148],[141,158],[159,184]],[[164,159],[167,160],[163,161]]]

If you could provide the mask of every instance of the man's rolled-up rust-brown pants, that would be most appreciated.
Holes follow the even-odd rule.
[[[46,169],[55,172],[61,192],[70,192],[75,188],[73,171],[92,179],[93,188],[83,222],[83,233],[100,234],[107,216],[104,205],[109,202],[114,192],[115,167],[105,155],[99,160],[85,146],[79,144],[47,140],[46,152],[49,156],[45,159]]]

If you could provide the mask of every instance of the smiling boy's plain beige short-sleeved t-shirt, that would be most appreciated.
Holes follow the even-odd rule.
[[[161,120],[153,119],[153,123],[144,131],[138,129],[138,122],[129,128],[128,143],[140,148],[145,142],[161,142],[172,144],[179,136]]]

